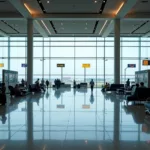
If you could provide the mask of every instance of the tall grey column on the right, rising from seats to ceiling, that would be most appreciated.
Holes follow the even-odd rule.
[[[115,19],[114,83],[120,84],[120,19]]]

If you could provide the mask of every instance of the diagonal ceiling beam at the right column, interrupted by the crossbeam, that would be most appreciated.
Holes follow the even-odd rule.
[[[138,0],[127,0],[125,3],[123,2],[116,12],[116,18],[124,18],[132,9],[132,7],[137,3],[137,1]],[[107,37],[113,31],[113,27],[113,21],[108,22],[103,30],[102,37]]]

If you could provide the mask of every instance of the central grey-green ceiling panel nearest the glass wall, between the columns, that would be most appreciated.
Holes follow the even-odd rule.
[[[96,21],[53,21],[58,34],[93,34]]]

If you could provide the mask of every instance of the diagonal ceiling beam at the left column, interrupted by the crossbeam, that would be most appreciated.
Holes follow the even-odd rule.
[[[20,14],[24,18],[32,18],[32,12],[25,7],[22,1],[19,0],[9,0],[9,2],[20,12]],[[48,37],[48,33],[46,30],[41,26],[38,21],[34,21],[34,28],[44,37]]]

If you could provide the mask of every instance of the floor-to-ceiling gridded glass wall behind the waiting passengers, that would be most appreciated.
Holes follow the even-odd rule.
[[[134,81],[135,71],[149,69],[142,66],[143,59],[149,59],[150,38],[121,38],[121,82],[127,78]],[[97,87],[104,82],[114,81],[114,38],[100,37],[51,37],[34,38],[33,78],[61,78],[61,68],[57,64],[65,64],[62,69],[65,83],[89,82],[92,78]],[[27,39],[26,37],[0,37],[0,80],[2,69],[18,71],[19,80],[26,79]],[[86,71],[82,64],[90,64]],[[127,68],[127,64],[136,64],[136,68]],[[126,69],[126,76],[125,76]],[[86,72],[86,74],[85,74]]]

